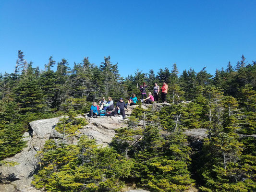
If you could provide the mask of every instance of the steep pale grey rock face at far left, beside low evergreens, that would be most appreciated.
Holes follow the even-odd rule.
[[[31,186],[32,176],[37,170],[38,163],[35,156],[49,139],[58,121],[59,118],[53,118],[30,123],[32,134],[25,132],[23,135],[27,146],[15,156],[4,159],[4,161],[16,162],[18,165],[0,167],[2,177],[7,178],[7,184],[0,186],[0,192],[39,192]],[[10,177],[11,179],[8,179]]]

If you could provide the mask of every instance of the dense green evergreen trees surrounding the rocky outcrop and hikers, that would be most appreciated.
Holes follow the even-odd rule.
[[[85,57],[73,69],[67,60],[56,62],[51,56],[40,70],[27,63],[19,50],[15,72],[0,74],[0,159],[25,146],[22,135],[32,120],[85,113],[91,101],[102,96],[113,100],[132,93],[138,96],[143,82],[148,91],[155,82],[166,82],[167,100],[172,105],[161,111],[134,109],[130,124],[117,131],[110,148],[98,148],[87,138],[77,146],[62,143],[62,148],[49,141],[42,151],[43,167],[35,185],[57,191],[118,191],[123,182],[132,181],[158,192],[184,191],[195,184],[205,192],[255,191],[256,140],[251,135],[256,133],[256,62],[248,63],[242,55],[235,67],[229,62],[214,75],[206,68],[178,73],[174,63],[171,70],[166,67],[157,74],[137,70],[123,78],[110,56],[99,67]],[[140,119],[145,121],[142,128],[136,126]],[[208,130],[200,153],[191,151],[183,134],[184,129],[196,128]],[[55,157],[67,156],[61,164],[49,164]],[[87,159],[89,156],[93,158]],[[100,164],[96,156],[102,162],[110,156],[116,166]],[[51,172],[53,165],[55,172]],[[66,169],[70,166],[72,173]],[[121,173],[121,169],[125,171]],[[73,180],[68,182],[67,174]]]

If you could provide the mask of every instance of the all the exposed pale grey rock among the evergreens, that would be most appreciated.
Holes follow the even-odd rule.
[[[152,110],[158,111],[164,105],[171,104],[154,104]],[[128,106],[125,111],[126,115],[131,115],[134,108],[137,106]],[[142,108],[147,109],[149,105],[142,105]],[[91,139],[95,139],[98,144],[106,146],[111,142],[115,135],[115,129],[127,126],[127,119],[122,120],[122,116],[117,117],[98,117],[88,118],[87,114],[83,116],[88,121],[88,124],[80,129],[78,136],[73,139],[73,144],[76,144],[78,138],[85,134]],[[23,138],[27,141],[27,146],[13,157],[6,158],[4,161],[16,162],[18,165],[13,167],[0,166],[0,177],[5,179],[5,184],[0,185],[0,192],[40,192],[31,185],[33,175],[37,173],[38,159],[37,151],[41,150],[48,139],[58,141],[63,136],[55,130],[60,118],[47,120],[36,120],[30,122],[30,132],[25,132]],[[139,123],[142,126],[143,122]],[[188,130],[185,133],[195,140],[202,140],[206,135],[206,130]],[[129,192],[148,192],[146,190],[130,190]]]

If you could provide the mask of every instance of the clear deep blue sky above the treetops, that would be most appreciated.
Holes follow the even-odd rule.
[[[255,12],[256,0],[0,0],[0,72],[22,50],[40,69],[51,55],[72,68],[110,55],[124,77],[175,62],[214,74],[256,60]]]

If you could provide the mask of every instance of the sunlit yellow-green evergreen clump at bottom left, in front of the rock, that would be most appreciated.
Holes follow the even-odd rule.
[[[133,163],[83,135],[77,145],[48,140],[38,152],[41,168],[32,182],[51,192],[117,192]]]

